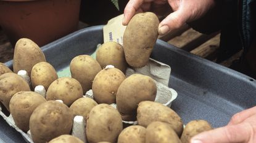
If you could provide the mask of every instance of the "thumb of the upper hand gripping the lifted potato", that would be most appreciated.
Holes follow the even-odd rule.
[[[181,9],[172,12],[159,24],[159,34],[167,34],[169,31],[180,28],[186,23],[188,17],[189,15]]]

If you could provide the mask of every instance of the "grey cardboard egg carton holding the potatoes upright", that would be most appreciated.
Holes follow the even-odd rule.
[[[149,60],[149,63],[144,66],[143,68],[128,68],[126,70],[126,77],[128,77],[131,74],[143,74],[148,75],[152,77],[152,79],[155,80],[155,83],[157,85],[157,95],[155,98],[155,102],[160,102],[165,106],[171,107],[171,102],[173,102],[178,94],[175,90],[168,87],[169,79],[170,79],[170,73],[171,68],[167,64],[160,63],[159,61],[155,61],[153,59]],[[22,76],[30,85],[31,81],[27,75],[26,71],[19,71],[19,75]],[[45,97],[46,90],[43,86],[39,85],[35,88],[35,91],[40,93],[42,96]],[[89,90],[86,92],[85,96],[86,98],[93,98],[93,91]],[[60,101],[62,102],[62,101]],[[116,104],[111,104],[111,106],[116,108]],[[10,114],[8,117],[2,112],[2,108],[0,106],[0,115],[6,120],[6,122],[12,126],[12,128],[15,128],[16,131],[18,131],[22,137],[25,139],[25,141],[29,143],[33,143],[31,139],[30,131],[27,133],[23,132],[21,129],[19,129],[14,122],[14,119],[12,118],[12,115]],[[137,125],[138,123],[135,121],[123,121],[123,123],[130,124],[130,125]],[[85,126],[86,122],[85,119],[82,116],[75,116],[73,118],[73,128],[72,128],[72,135],[78,137],[81,139],[81,141],[86,142],[86,133],[85,133]]]

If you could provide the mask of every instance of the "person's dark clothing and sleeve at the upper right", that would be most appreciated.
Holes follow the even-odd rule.
[[[204,17],[188,23],[200,33],[220,31],[217,63],[226,60],[242,48],[246,53],[255,39],[256,0],[216,0],[216,5]]]

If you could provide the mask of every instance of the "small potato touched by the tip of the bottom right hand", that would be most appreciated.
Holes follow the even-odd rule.
[[[209,131],[212,129],[212,126],[205,120],[192,120],[189,122],[181,135],[181,142],[189,143],[190,139],[193,136],[196,136],[199,133],[204,131]]]

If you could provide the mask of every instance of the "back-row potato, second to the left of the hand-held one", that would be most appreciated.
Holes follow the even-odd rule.
[[[89,55],[79,55],[70,63],[71,76],[83,87],[83,94],[91,90],[93,79],[101,71],[101,65]]]

